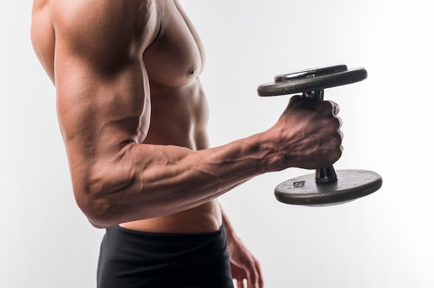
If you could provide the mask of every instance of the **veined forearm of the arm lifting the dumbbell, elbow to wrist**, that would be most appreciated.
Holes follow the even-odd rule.
[[[256,134],[199,151],[131,143],[115,160],[94,169],[98,174],[89,190],[78,192],[85,195],[80,207],[94,225],[110,226],[205,204],[273,170],[275,150],[264,137]]]

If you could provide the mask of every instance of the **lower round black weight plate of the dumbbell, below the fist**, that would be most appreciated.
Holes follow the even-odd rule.
[[[323,206],[351,201],[379,190],[381,176],[367,170],[338,170],[338,181],[315,183],[315,174],[307,174],[280,183],[275,197],[285,204]]]

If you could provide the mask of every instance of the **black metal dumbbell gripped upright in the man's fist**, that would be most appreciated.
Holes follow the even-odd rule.
[[[367,78],[363,68],[346,65],[306,69],[275,76],[275,82],[261,84],[259,96],[302,93],[306,100],[324,99],[324,89],[359,82]],[[286,204],[326,206],[351,201],[379,190],[381,176],[367,170],[318,168],[314,174],[289,179],[275,188],[277,200]]]

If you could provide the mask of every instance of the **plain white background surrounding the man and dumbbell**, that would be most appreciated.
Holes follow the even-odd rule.
[[[325,98],[344,121],[336,169],[379,172],[381,190],[340,206],[289,206],[274,187],[309,173],[290,169],[221,199],[266,287],[434,287],[429,1],[181,2],[207,51],[212,145],[275,123],[288,96],[259,98],[256,89],[277,73],[340,63],[369,73]],[[31,48],[30,22],[30,0],[1,1],[0,287],[95,287],[103,231],[74,202],[55,91]]]

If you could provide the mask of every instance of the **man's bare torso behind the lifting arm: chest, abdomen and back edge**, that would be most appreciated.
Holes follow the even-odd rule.
[[[33,9],[33,45],[54,84],[55,15],[53,17],[52,7],[53,3],[62,1],[67,3],[67,0],[35,0]],[[156,15],[153,23],[148,21],[144,24],[153,34],[143,53],[151,109],[150,124],[143,124],[149,123],[149,111],[142,113],[142,125],[137,129],[143,131],[138,134],[138,140],[148,144],[183,146],[191,150],[205,149],[208,147],[208,111],[198,80],[203,64],[198,36],[176,1],[135,2],[152,2],[152,12]],[[145,97],[148,96],[141,96],[141,101]],[[157,233],[201,233],[216,231],[221,222],[218,201],[212,200],[175,215],[121,225]]]

